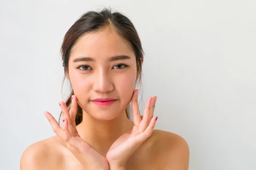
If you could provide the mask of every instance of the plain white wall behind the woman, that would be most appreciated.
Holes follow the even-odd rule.
[[[188,142],[189,170],[256,170],[253,0],[2,0],[0,169],[19,169],[26,147],[55,135],[43,111],[60,113],[62,39],[100,6],[136,26],[145,50],[143,99],[157,95],[156,128]]]

